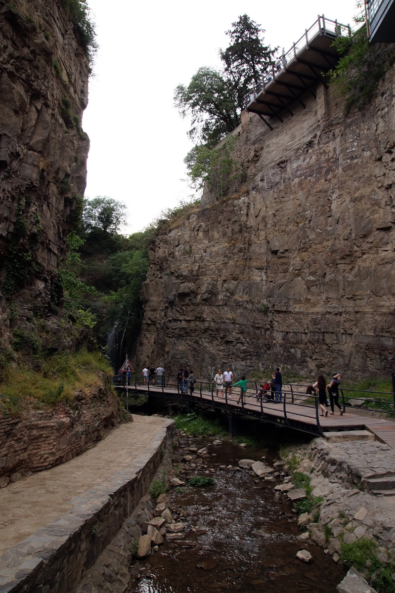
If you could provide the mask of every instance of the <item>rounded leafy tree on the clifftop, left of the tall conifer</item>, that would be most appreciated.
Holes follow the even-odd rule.
[[[199,68],[187,87],[174,91],[174,103],[181,117],[190,113],[190,138],[214,146],[240,123],[237,99],[231,81],[213,68]]]

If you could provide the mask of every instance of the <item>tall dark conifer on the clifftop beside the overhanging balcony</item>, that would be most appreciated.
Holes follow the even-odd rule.
[[[262,78],[263,72],[274,64],[273,56],[277,50],[263,45],[265,29],[251,20],[247,14],[240,15],[232,28],[225,31],[231,44],[219,50],[225,72],[230,76],[237,93],[237,106],[244,108],[244,97]]]

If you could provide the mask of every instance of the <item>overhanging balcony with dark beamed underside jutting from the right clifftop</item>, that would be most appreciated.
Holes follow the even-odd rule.
[[[307,91],[314,97],[317,82],[326,82],[323,74],[335,66],[339,55],[333,44],[337,37],[351,36],[350,25],[318,15],[317,21],[305,30],[304,35],[283,53],[269,72],[245,98],[247,111],[257,113],[265,123],[272,126],[263,116],[276,116],[288,111],[293,115],[291,106],[299,103],[305,107],[301,97]]]

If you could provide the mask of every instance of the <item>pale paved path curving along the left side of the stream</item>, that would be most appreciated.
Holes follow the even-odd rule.
[[[0,490],[0,556],[73,508],[75,496],[98,486],[133,461],[163,429],[166,420],[133,415],[96,447],[67,463],[40,471]]]

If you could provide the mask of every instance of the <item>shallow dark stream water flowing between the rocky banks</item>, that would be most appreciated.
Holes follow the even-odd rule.
[[[184,494],[170,494],[170,508],[177,521],[186,523],[184,538],[167,542],[160,551],[139,566],[146,568],[136,582],[135,593],[206,593],[207,591],[329,593],[336,591],[345,571],[310,540],[298,540],[301,533],[291,504],[273,499],[275,483],[257,480],[249,470],[221,470],[243,458],[271,464],[267,449],[241,448],[224,442],[212,445],[207,439],[181,439],[182,447],[208,447],[215,457],[205,459],[215,473],[215,484],[206,488],[185,487]],[[195,460],[194,460],[195,461]],[[177,461],[175,461],[177,463]],[[189,474],[189,473],[188,473]],[[186,474],[181,474],[184,479]],[[183,516],[184,515],[184,516]],[[180,518],[178,518],[180,517]],[[197,535],[192,527],[208,531]],[[263,530],[264,535],[254,534]],[[314,561],[297,559],[298,550],[308,550]]]

